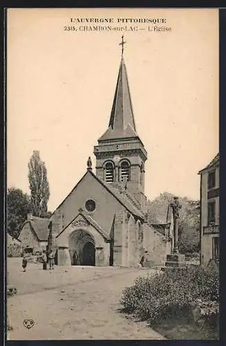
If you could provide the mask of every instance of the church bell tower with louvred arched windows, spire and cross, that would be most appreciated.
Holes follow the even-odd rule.
[[[122,59],[109,120],[109,128],[94,147],[96,176],[114,188],[126,188],[138,203],[144,197],[144,163],[147,152],[135,127],[126,65]]]

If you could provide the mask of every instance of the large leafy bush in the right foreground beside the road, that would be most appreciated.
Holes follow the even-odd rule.
[[[158,322],[162,318],[191,313],[198,302],[218,302],[219,273],[216,266],[194,266],[138,277],[124,289],[122,308],[143,320]]]

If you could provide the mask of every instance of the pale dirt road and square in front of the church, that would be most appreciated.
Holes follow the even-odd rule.
[[[18,289],[8,299],[13,327],[8,339],[164,339],[145,322],[133,322],[119,311],[122,289],[150,270],[59,266],[42,271],[38,264],[29,264],[22,273],[20,262],[8,262],[8,282]],[[35,325],[27,329],[24,319]]]

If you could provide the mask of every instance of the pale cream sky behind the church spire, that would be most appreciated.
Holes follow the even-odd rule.
[[[39,150],[54,211],[86,172],[109,125],[122,31],[84,31],[70,18],[112,18],[126,31],[124,61],[135,125],[148,152],[145,193],[199,199],[198,171],[218,152],[218,10],[10,9],[7,48],[7,181],[30,192]],[[165,19],[120,24],[117,18]],[[77,30],[65,30],[75,26]],[[79,29],[80,28],[80,29]]]

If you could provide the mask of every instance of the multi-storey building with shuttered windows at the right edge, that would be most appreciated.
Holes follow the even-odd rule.
[[[219,164],[217,154],[200,170],[200,262],[219,259]]]

